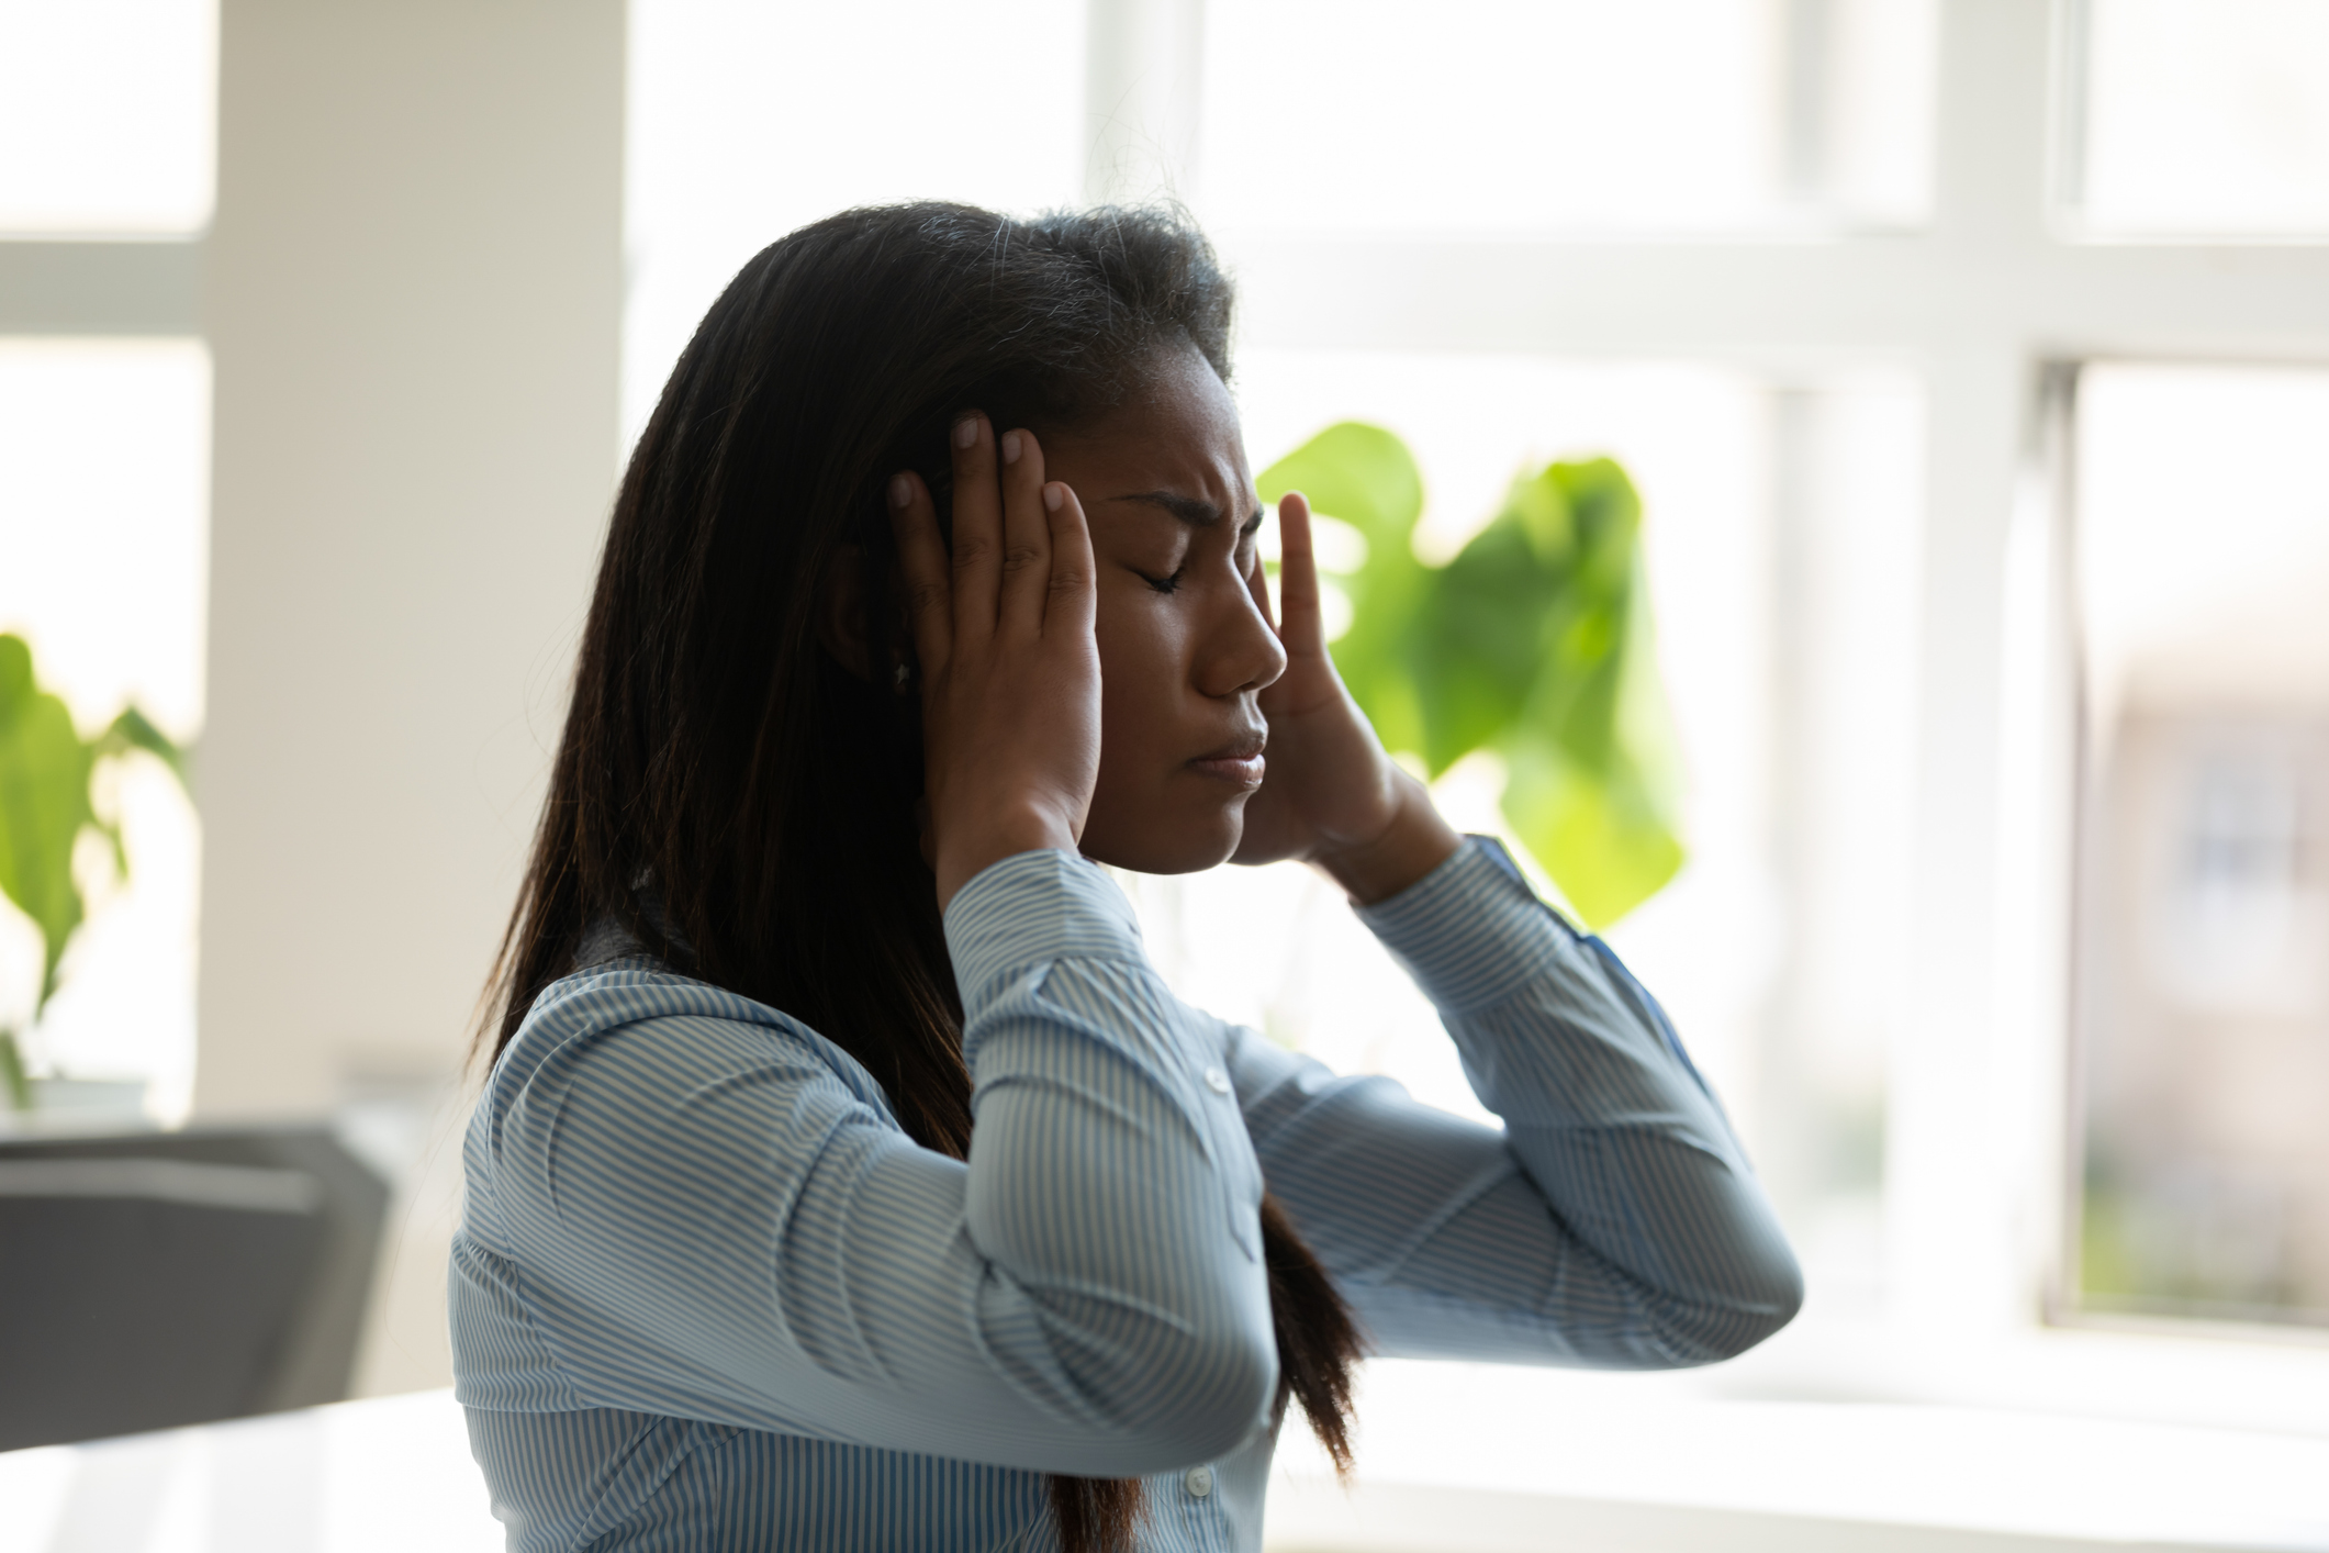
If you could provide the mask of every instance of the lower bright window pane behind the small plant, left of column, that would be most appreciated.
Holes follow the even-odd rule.
[[[30,640],[47,689],[95,733],[135,703],[179,743],[203,726],[210,359],[193,340],[0,340],[0,631]],[[102,794],[130,875],[89,896],[63,985],[28,1036],[37,1071],[144,1080],[193,1099],[200,829],[151,761]],[[84,850],[93,843],[84,838]],[[84,887],[109,871],[84,857]],[[40,931],[0,910],[0,1024],[23,1029]]]

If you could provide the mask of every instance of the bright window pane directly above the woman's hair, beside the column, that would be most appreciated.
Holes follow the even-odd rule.
[[[647,424],[710,300],[794,226],[883,200],[1071,203],[1083,9],[633,5],[624,440]]]

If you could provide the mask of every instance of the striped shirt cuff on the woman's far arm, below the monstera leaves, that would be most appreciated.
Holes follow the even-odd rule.
[[[1421,880],[1355,910],[1423,994],[1451,1013],[1505,1001],[1579,941],[1493,836],[1465,836]]]

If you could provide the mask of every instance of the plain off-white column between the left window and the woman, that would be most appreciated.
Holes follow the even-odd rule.
[[[196,1111],[449,1073],[617,456],[622,0],[224,0]]]

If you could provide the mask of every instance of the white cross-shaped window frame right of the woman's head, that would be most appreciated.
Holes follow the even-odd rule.
[[[2329,361],[2329,235],[2082,228],[2082,0],[1942,0],[1933,210],[1912,233],[1216,237],[1246,345],[1921,375],[1917,913],[1912,1013],[1886,1062],[1886,1316],[1772,1343],[1730,1388],[2329,1432],[2322,1334],[2094,1320],[2061,1299],[2077,366]]]

